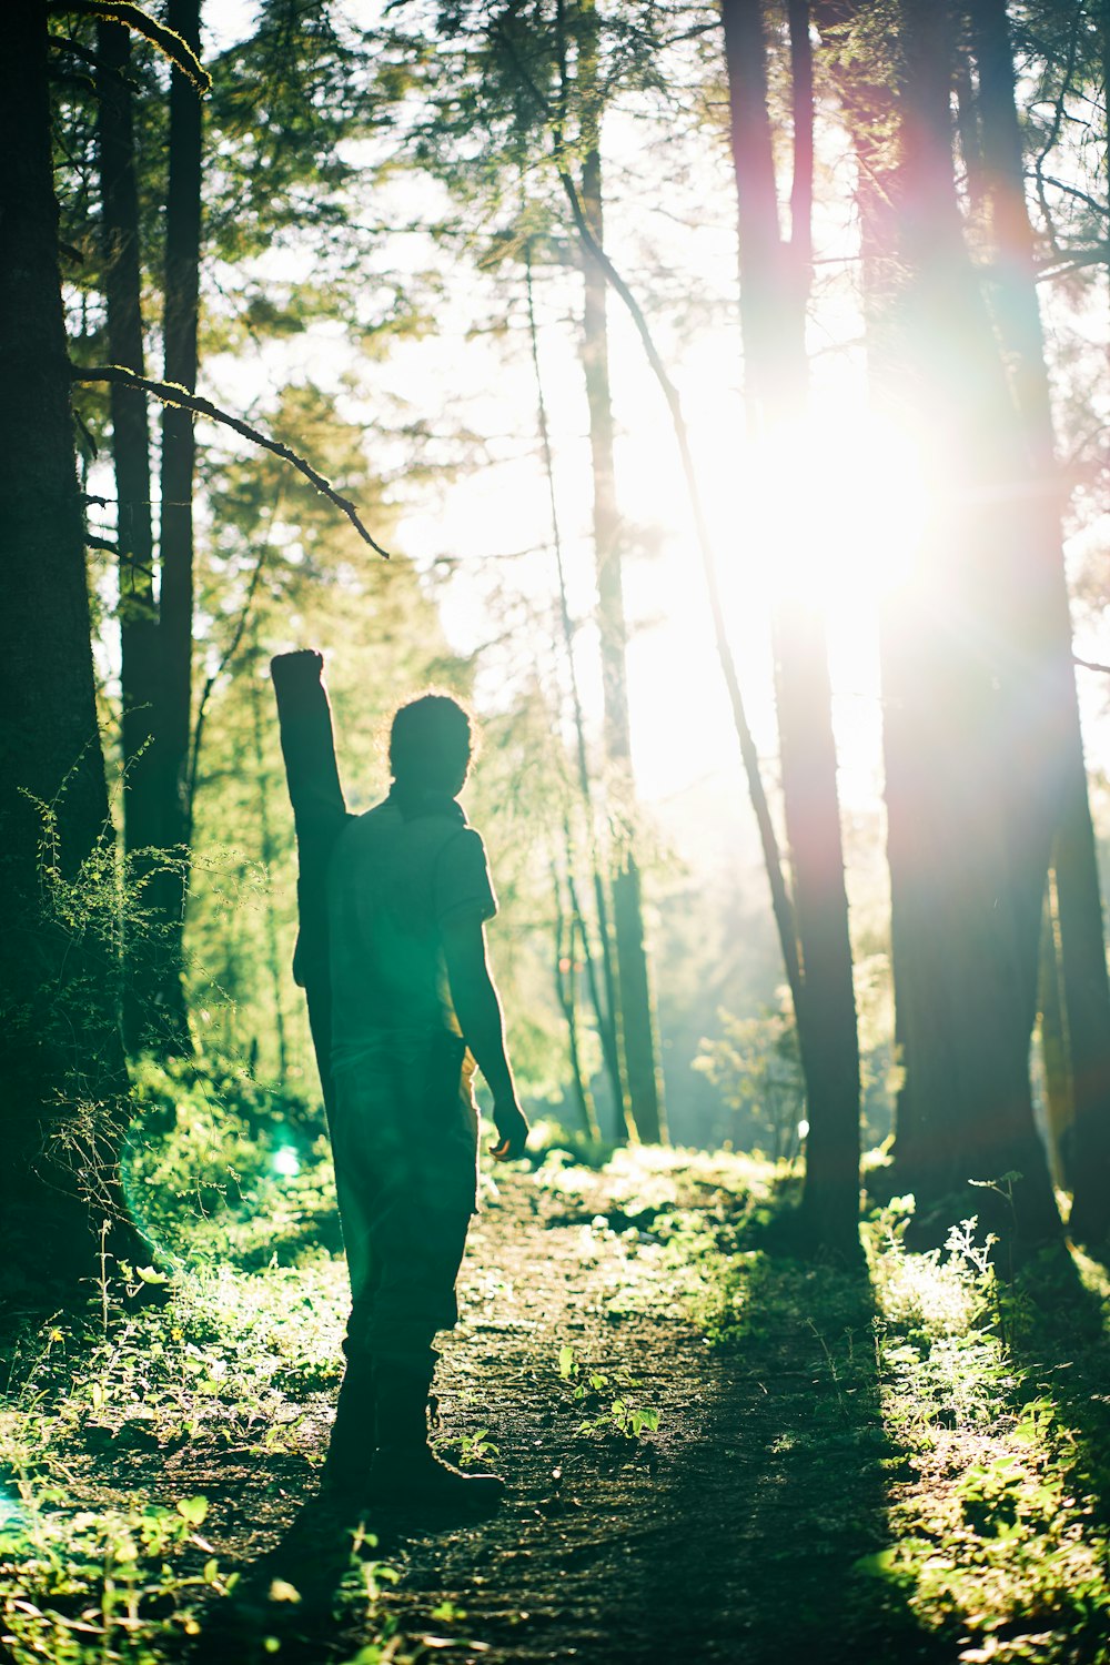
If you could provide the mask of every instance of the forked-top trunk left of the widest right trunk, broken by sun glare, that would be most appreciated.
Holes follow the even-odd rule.
[[[812,90],[809,10],[794,3],[795,188],[792,240],[779,228],[762,0],[724,0],[736,166],[741,328],[751,426],[774,435],[805,410],[805,296]],[[802,38],[804,37],[804,38]],[[805,458],[797,458],[799,478]],[[815,1242],[859,1252],[859,1042],[844,887],[832,694],[820,613],[804,598],[776,616],[776,701],[800,987],[797,1031],[809,1144],[804,1214]]]

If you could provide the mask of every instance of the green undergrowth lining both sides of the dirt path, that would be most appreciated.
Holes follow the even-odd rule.
[[[321,1129],[216,1067],[151,1067],[145,1082],[130,1184],[151,1195],[155,1265],[93,1289],[83,1317],[28,1320],[0,1355],[0,1638],[17,1665],[203,1658],[235,1612],[251,1658],[270,1642],[281,1657],[311,1605],[298,1588],[311,1540],[280,1577],[240,1578],[220,1528],[225,1497],[261,1498],[266,1475],[288,1497],[315,1489],[346,1305]],[[974,1220],[914,1254],[907,1200],[865,1220],[865,1269],[792,1259],[787,1166],[602,1157],[551,1132],[528,1189],[546,1220],[577,1232],[606,1315],[692,1317],[756,1384],[759,1427],[736,1425],[716,1460],[749,1465],[752,1530],[767,1508],[767,1532],[807,1550],[784,1542],[782,1587],[771,1557],[757,1627],[780,1630],[787,1653],[832,1622],[857,1658],[1110,1665],[1102,1270],[1060,1249],[1000,1279]],[[143,1275],[161,1299],[136,1305]],[[651,1375],[641,1390],[617,1352],[576,1339],[553,1357],[548,1392],[576,1435],[649,1445],[664,1475],[696,1430],[661,1410]],[[463,1462],[496,1457],[496,1437],[476,1424]],[[409,1645],[381,1602],[388,1558],[358,1532],[339,1558],[334,1588],[366,1615],[359,1665],[399,1665]],[[429,1617],[448,1632],[464,1620]]]

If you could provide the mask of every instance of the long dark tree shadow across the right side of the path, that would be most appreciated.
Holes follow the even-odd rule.
[[[884,1430],[867,1272],[761,1250],[737,1262],[732,1295],[734,1334],[706,1362],[701,1425],[669,1480],[684,1528],[614,1615],[617,1657],[666,1643],[737,1665],[950,1660],[950,1638],[874,1565],[909,1467]],[[654,1613],[651,1642],[632,1640],[637,1608]]]

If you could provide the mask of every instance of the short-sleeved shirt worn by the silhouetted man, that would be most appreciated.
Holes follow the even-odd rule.
[[[333,1057],[383,1031],[459,1034],[443,927],[496,911],[483,841],[456,803],[404,816],[386,799],[351,821],[328,874]]]

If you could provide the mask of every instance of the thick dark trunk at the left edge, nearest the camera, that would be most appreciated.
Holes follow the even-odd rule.
[[[3,45],[0,1239],[8,1284],[50,1280],[80,1294],[103,1220],[126,1252],[135,1245],[116,1177],[128,1104],[115,841],[73,456],[45,8],[12,8]]]

